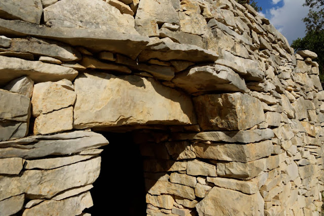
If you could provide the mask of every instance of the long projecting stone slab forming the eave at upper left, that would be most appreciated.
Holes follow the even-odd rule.
[[[72,46],[83,46],[93,52],[110,51],[132,59],[136,59],[149,43],[149,38],[140,34],[91,28],[51,28],[20,20],[4,19],[0,19],[0,34],[53,39]]]

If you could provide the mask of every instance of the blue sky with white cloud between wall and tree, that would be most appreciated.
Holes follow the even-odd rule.
[[[256,0],[262,7],[261,15],[268,18],[291,44],[305,36],[305,24],[309,8],[303,7],[305,0]]]

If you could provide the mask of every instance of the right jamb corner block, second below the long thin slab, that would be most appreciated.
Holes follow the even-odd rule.
[[[239,179],[251,179],[260,175],[263,171],[267,170],[267,158],[260,160],[240,163],[240,162],[229,162],[229,163],[218,163],[217,164],[217,175],[224,177],[233,177]]]

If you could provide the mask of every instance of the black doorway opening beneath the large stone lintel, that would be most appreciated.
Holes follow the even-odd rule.
[[[103,134],[109,141],[103,147],[101,171],[93,184],[94,206],[85,210],[97,215],[146,215],[143,161],[131,132]]]

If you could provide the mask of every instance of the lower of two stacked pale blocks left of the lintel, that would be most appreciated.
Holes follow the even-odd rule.
[[[34,134],[57,133],[73,129],[73,107],[42,114],[35,119]]]

